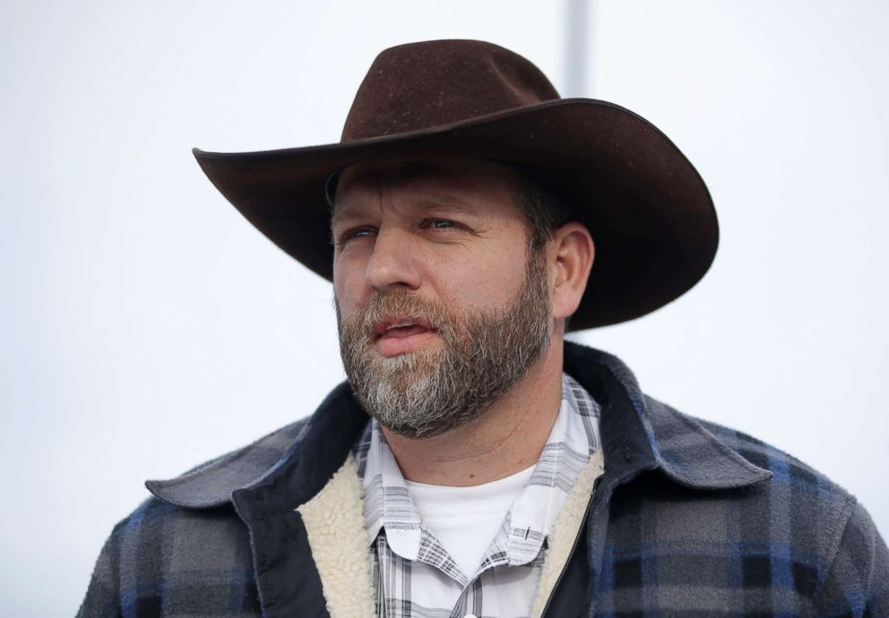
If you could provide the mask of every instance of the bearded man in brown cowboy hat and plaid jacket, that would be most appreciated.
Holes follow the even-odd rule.
[[[339,144],[195,155],[332,279],[349,381],[150,482],[82,615],[889,614],[849,494],[564,340],[712,262],[709,193],[652,124],[431,41],[376,58]]]

